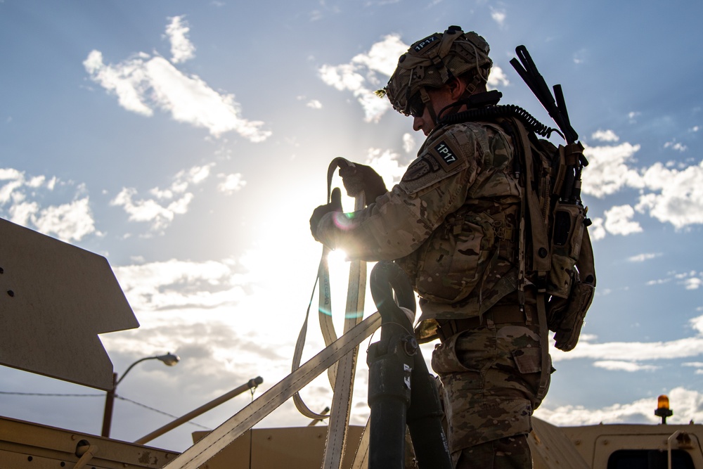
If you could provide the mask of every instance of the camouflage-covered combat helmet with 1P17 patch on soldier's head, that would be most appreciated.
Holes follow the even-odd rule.
[[[472,81],[467,83],[467,93],[471,94],[479,84],[488,81],[493,65],[489,50],[479,34],[450,26],[444,33],[436,32],[410,46],[398,59],[387,86],[378,94],[388,96],[399,113],[417,115],[423,104],[430,101],[426,88],[439,88],[454,77],[473,72]],[[436,120],[434,115],[432,118]]]

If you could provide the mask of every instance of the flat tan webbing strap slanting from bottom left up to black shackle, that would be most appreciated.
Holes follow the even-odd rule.
[[[264,417],[287,401],[292,394],[308,385],[320,373],[332,366],[366,340],[381,325],[378,312],[368,316],[358,326],[342,335],[305,364],[280,380],[251,404],[209,432],[190,448],[183,451],[164,469],[197,469],[224,449],[237,437],[252,428]]]

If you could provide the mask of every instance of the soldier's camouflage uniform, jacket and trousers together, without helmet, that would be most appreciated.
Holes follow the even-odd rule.
[[[531,467],[541,342],[534,300],[520,311],[515,293],[522,189],[512,154],[494,123],[436,129],[397,186],[364,210],[325,214],[316,233],[352,259],[395,259],[410,276],[418,338],[441,339],[432,368],[458,467],[501,467],[485,458],[506,453],[508,464]]]

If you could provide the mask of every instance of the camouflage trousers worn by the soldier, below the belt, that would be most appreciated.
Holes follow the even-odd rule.
[[[544,396],[538,395],[541,344],[537,311],[531,304],[526,310],[529,324],[524,319],[499,323],[491,309],[480,325],[446,337],[434,349],[432,368],[441,380],[449,449],[457,468],[531,467],[531,463],[510,465],[505,461],[508,465],[494,466],[467,461],[489,446],[491,452],[504,456],[505,448],[500,447],[505,445],[512,445],[509,452],[517,460],[531,461],[526,435],[532,429],[532,411]],[[546,366],[551,368],[551,364]],[[466,462],[457,465],[460,459]],[[485,456],[479,459],[485,461]]]

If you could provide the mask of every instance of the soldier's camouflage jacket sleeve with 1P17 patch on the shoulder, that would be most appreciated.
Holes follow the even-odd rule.
[[[363,210],[326,214],[318,224],[318,239],[351,259],[406,257],[475,196],[472,188],[486,187],[496,172],[505,171],[510,153],[508,137],[494,125],[439,129],[425,141],[398,185]]]

